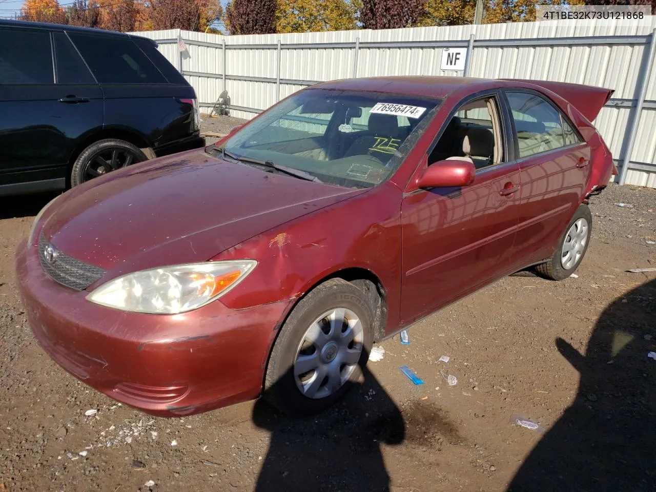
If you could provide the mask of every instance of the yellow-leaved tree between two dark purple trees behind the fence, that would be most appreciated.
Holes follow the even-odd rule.
[[[278,0],[276,31],[319,32],[357,29],[361,1]]]

